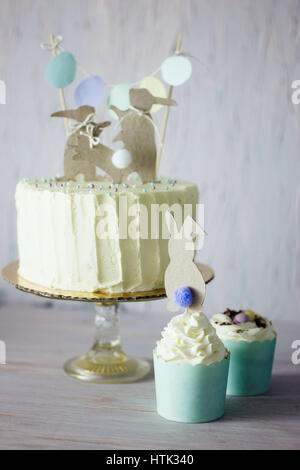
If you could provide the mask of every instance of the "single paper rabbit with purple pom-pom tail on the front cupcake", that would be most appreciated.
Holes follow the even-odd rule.
[[[170,212],[166,212],[166,223],[171,235],[168,245],[170,263],[165,272],[168,310],[176,312],[184,307],[199,312],[205,298],[205,282],[194,257],[196,234],[203,230],[190,216],[178,230]]]

